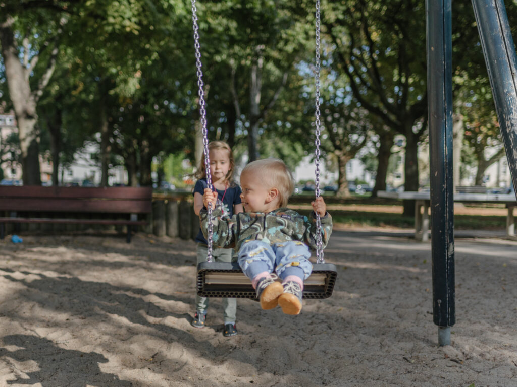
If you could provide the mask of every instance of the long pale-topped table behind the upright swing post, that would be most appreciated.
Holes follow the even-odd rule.
[[[429,240],[429,208],[431,194],[429,191],[378,191],[379,198],[415,200],[415,239]],[[506,235],[515,238],[516,225],[514,209],[517,207],[515,193],[454,193],[454,202],[462,203],[503,203],[508,208],[506,216]],[[423,211],[422,211],[423,209]]]

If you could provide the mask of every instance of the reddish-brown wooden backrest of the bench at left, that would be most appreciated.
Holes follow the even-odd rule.
[[[0,186],[0,211],[145,214],[151,187]]]

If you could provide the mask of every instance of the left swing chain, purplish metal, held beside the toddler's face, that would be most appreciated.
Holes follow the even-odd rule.
[[[210,175],[210,156],[208,151],[208,131],[206,128],[206,107],[205,107],[205,91],[203,90],[203,72],[201,71],[201,45],[199,43],[199,27],[197,26],[197,9],[195,7],[195,0],[192,0],[192,25],[194,28],[194,47],[195,59],[197,68],[197,95],[199,96],[199,115],[201,118],[201,127],[203,129],[203,154],[205,157],[205,175],[208,188],[212,191],[212,176]],[[208,203],[207,208],[208,219],[208,240],[207,240],[207,256],[206,261],[212,262],[212,245],[214,235],[214,225],[212,224],[212,203]]]

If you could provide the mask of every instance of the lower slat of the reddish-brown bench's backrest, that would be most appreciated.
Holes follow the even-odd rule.
[[[153,211],[150,197],[141,200],[105,199],[1,199],[0,211],[40,211],[40,212],[81,212],[81,213],[121,213],[146,214]]]

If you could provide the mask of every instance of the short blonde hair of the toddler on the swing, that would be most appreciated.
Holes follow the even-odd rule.
[[[285,207],[294,191],[294,179],[291,171],[279,158],[264,158],[249,163],[242,173],[251,172],[260,176],[267,188],[276,188],[279,192],[279,205]]]

